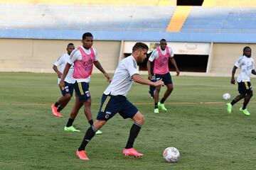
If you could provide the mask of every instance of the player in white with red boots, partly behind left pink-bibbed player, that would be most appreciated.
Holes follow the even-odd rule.
[[[65,68],[65,65],[67,64],[71,52],[75,50],[75,46],[73,43],[69,43],[67,47],[67,52],[64,55],[61,55],[58,57],[58,60],[53,64],[53,70],[56,72],[58,76],[58,84],[60,84],[60,79],[63,74],[63,70]],[[60,70],[58,69],[58,66],[60,66]],[[58,101],[55,102],[55,104],[51,105],[53,115],[57,117],[62,117],[60,111],[67,106],[68,102],[70,101],[72,95],[73,95],[73,84],[75,83],[75,79],[73,79],[73,71],[74,67],[73,65],[70,67],[70,70],[67,74],[67,77],[65,77],[65,87],[64,89],[60,89],[63,96],[61,96]]]

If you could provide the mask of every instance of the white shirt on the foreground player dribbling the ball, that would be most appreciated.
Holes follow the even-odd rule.
[[[119,62],[110,85],[103,93],[112,96],[127,96],[129,89],[132,87],[132,75],[134,74],[139,74],[139,71],[137,70],[136,60],[130,55]]]

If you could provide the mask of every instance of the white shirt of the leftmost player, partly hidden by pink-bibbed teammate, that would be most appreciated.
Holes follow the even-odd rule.
[[[68,60],[69,60],[70,56],[66,53],[64,55],[61,55],[60,57],[58,57],[58,60],[54,63],[54,65],[56,67],[60,66],[59,71],[61,73],[63,73],[64,69],[65,69],[65,65],[67,64]],[[74,84],[75,83],[75,79],[73,78],[73,72],[74,72],[74,64],[71,65],[67,76],[65,77],[65,80],[67,83],[69,84]],[[60,84],[60,78],[58,78],[58,84]]]

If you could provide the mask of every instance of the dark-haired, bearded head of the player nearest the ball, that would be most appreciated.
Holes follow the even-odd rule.
[[[143,42],[137,42],[134,47],[132,47],[132,56],[137,61],[137,63],[142,63],[146,59],[146,53],[149,47]]]

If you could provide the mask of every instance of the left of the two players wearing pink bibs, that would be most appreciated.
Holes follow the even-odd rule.
[[[64,88],[64,79],[68,74],[68,70],[74,64],[74,73],[73,77],[75,78],[75,104],[73,109],[70,113],[70,118],[68,119],[68,123],[65,126],[64,130],[66,131],[73,131],[73,132],[80,132],[73,126],[73,121],[75,117],[78,115],[78,111],[82,106],[84,106],[84,113],[90,125],[93,125],[92,120],[92,113],[91,113],[91,96],[89,91],[89,81],[90,76],[92,74],[93,64],[97,69],[102,72],[107,81],[111,81],[110,76],[105,72],[102,68],[100,62],[98,61],[98,56],[95,48],[92,48],[93,44],[93,37],[91,33],[84,33],[82,35],[82,45],[75,49],[71,55],[70,60],[65,66],[63,77],[60,80],[60,88]],[[101,132],[98,131],[97,134]]]

